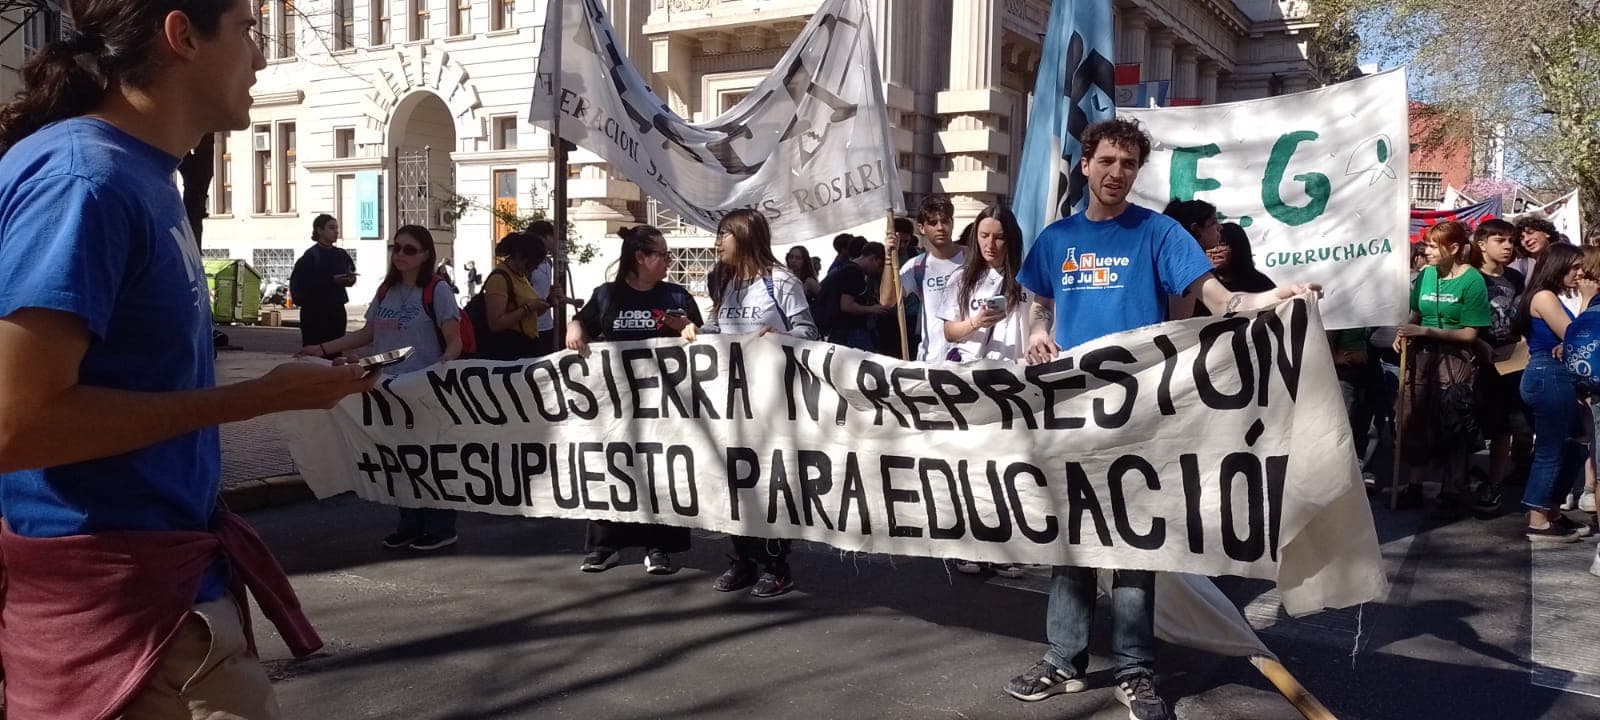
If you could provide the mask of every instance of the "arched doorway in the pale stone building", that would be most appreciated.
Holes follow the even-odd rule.
[[[454,256],[454,221],[443,214],[456,192],[456,122],[445,101],[427,90],[414,91],[395,106],[389,125],[392,226],[422,226],[434,235],[438,258]]]

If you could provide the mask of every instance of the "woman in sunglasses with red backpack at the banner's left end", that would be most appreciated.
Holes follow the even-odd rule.
[[[366,325],[344,338],[306,346],[301,355],[336,357],[373,346],[376,352],[410,347],[405,360],[386,368],[405,374],[461,357],[461,307],[450,283],[435,274],[434,234],[405,226],[389,245],[389,272],[366,306]],[[437,550],[456,542],[456,510],[400,509],[400,523],[382,539],[397,550]]]

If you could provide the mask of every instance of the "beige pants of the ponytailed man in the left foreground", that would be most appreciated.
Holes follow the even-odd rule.
[[[272,682],[250,656],[234,598],[195,605],[123,720],[275,720]]]

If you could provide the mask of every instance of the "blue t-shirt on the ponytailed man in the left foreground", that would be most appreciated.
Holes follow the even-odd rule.
[[[173,179],[178,158],[101,120],[53,123],[0,158],[0,317],[75,315],[78,384],[176,392],[216,384],[211,298]],[[29,538],[206,530],[221,480],[216,427],[131,453],[0,474],[0,514]],[[226,565],[198,602],[222,595]]]

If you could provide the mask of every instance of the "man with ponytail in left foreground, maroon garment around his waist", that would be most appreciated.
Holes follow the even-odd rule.
[[[250,126],[245,0],[74,0],[0,109],[0,662],[16,718],[278,715],[242,595],[322,640],[218,507],[216,426],[376,381],[290,363],[216,387],[200,248],[173,182]]]

